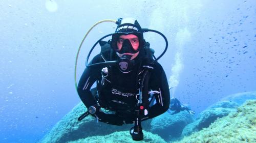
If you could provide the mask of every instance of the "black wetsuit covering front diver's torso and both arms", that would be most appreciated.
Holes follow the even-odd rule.
[[[114,60],[117,59],[115,53],[112,53]],[[112,59],[113,59],[112,57]],[[100,107],[115,111],[115,114],[105,114],[102,111],[96,112],[100,122],[106,122],[113,125],[122,125],[123,123],[133,123],[134,108],[138,103],[136,95],[139,92],[141,76],[145,69],[141,68],[145,63],[145,58],[140,58],[141,53],[135,58],[135,66],[129,73],[121,72],[116,66],[96,66],[88,67],[84,70],[78,83],[78,94],[87,108],[96,103]],[[96,55],[90,64],[104,62],[102,54]],[[108,68],[108,74],[102,74],[102,68]],[[142,121],[161,115],[169,108],[170,96],[166,75],[159,63],[153,65],[151,76],[148,83],[148,89],[157,91],[154,94],[156,103],[148,108],[148,115],[142,117]],[[96,81],[98,96],[90,91]],[[150,96],[148,96],[150,97]],[[98,101],[97,101],[98,100]],[[148,103],[146,103],[149,105]],[[94,115],[93,115],[94,116]]]

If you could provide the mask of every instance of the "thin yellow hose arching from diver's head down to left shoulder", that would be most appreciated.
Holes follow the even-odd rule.
[[[78,48],[77,54],[76,54],[76,63],[75,63],[75,87],[76,87],[76,91],[77,91],[76,67],[77,67],[78,55],[79,55],[80,49],[81,49],[81,47],[82,47],[83,41],[86,39],[87,35],[91,32],[91,30],[92,30],[96,25],[98,25],[99,23],[102,23],[102,22],[114,22],[114,23],[116,23],[116,20],[105,19],[105,20],[101,20],[101,21],[95,23],[95,24],[90,28],[90,30],[86,33],[86,35],[83,37],[82,42],[81,42],[81,44],[80,44],[80,46],[79,46],[79,48]]]

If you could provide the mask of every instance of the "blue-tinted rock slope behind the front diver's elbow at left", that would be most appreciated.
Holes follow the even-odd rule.
[[[77,118],[86,110],[86,107],[80,102],[40,142],[67,142],[88,136],[111,134],[115,131],[129,133],[130,128],[133,127],[133,124],[113,126],[101,122],[97,123],[96,119],[90,115],[82,121],[77,121]]]

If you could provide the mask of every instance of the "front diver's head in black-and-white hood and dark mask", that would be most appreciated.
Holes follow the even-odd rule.
[[[124,18],[112,35],[111,47],[119,58],[135,59],[143,49],[144,40],[140,24],[134,18]]]

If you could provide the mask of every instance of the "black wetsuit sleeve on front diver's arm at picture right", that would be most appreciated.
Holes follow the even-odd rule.
[[[167,78],[162,66],[156,63],[150,77],[150,89],[158,91],[155,94],[156,104],[148,110],[148,118],[154,118],[168,110],[170,104],[170,93]]]

